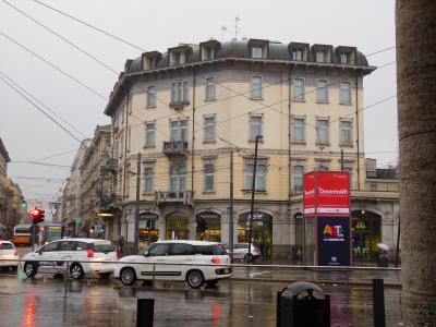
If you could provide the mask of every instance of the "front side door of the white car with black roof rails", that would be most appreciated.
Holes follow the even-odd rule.
[[[165,264],[169,253],[169,243],[154,243],[144,253],[144,256],[137,258],[136,272],[141,279],[168,279],[166,278]],[[141,276],[141,277],[140,277]]]

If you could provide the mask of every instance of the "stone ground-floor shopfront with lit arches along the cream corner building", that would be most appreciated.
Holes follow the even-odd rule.
[[[228,202],[202,202],[194,206],[166,204],[155,206],[142,203],[140,210],[140,246],[157,240],[207,240],[228,244],[230,241],[230,209]],[[205,228],[197,229],[202,219]],[[377,244],[396,249],[399,219],[398,199],[352,201],[352,257],[355,262],[373,261],[378,254]],[[235,202],[233,209],[233,243],[249,242],[252,222],[252,242],[264,257],[292,257],[304,243],[313,242],[302,217],[302,202],[289,205],[280,202],[257,202],[251,221],[250,203]],[[124,207],[113,221],[107,221],[108,237],[119,235],[134,243],[134,204]]]

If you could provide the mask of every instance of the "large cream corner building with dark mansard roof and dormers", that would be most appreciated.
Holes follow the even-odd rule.
[[[112,206],[118,210],[109,225],[133,242],[136,155],[142,154],[142,241],[227,243],[233,153],[233,240],[247,241],[254,147],[262,135],[253,237],[264,255],[289,255],[302,243],[303,174],[339,170],[341,150],[352,180],[353,225],[365,218],[362,213],[372,213],[378,239],[390,242],[398,192],[366,189],[360,109],[363,77],[374,70],[355,47],[264,39],[211,39],[128,60],[105,109],[118,160]],[[199,218],[207,226],[201,233]],[[373,229],[359,235],[362,247],[374,249]]]

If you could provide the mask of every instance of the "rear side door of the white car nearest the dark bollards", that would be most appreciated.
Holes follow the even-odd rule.
[[[193,246],[187,243],[172,243],[166,262],[171,264],[165,267],[168,279],[184,280],[186,271],[192,268],[190,264],[194,263]]]

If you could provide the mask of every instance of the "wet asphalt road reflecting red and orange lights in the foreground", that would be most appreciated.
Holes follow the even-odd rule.
[[[154,326],[276,326],[277,291],[287,283],[220,281],[192,290],[184,283],[122,287],[112,279],[19,279],[0,276],[0,326],[135,326],[136,292],[155,295]],[[372,326],[365,286],[323,286],[331,296],[331,326]],[[401,326],[400,290],[385,290],[387,326]]]

